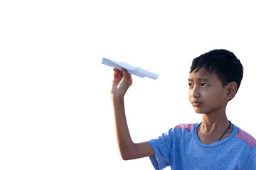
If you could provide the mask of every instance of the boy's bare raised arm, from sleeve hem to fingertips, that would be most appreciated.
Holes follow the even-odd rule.
[[[114,118],[117,133],[117,142],[122,159],[137,159],[154,155],[154,151],[148,142],[134,143],[124,111],[124,94],[132,85],[132,75],[126,69],[119,71],[114,69],[114,79],[112,83],[112,101],[114,105]]]

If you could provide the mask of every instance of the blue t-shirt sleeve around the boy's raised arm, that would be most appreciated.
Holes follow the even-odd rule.
[[[149,159],[156,170],[171,166],[172,136],[171,129],[168,133],[162,134],[158,139],[148,141],[155,153],[154,156],[149,157]]]

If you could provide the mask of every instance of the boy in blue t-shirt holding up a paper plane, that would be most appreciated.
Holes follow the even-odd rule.
[[[195,58],[188,98],[203,121],[177,125],[156,140],[134,143],[124,112],[124,94],[132,76],[125,69],[114,69],[111,94],[122,158],[150,157],[155,169],[256,169],[256,140],[233,125],[225,113],[242,75],[240,60],[228,50],[212,50]]]

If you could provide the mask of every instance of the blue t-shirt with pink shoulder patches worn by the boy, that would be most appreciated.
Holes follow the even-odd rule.
[[[233,125],[231,135],[204,145],[196,134],[199,124],[181,124],[158,139],[150,140],[155,169],[256,169],[256,140]]]

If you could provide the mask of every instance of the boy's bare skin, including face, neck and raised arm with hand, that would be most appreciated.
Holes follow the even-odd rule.
[[[137,159],[154,155],[154,150],[148,142],[134,143],[129,133],[124,111],[124,95],[132,85],[132,75],[126,69],[114,70],[112,81],[112,102],[117,142],[122,159]],[[223,86],[215,74],[201,69],[192,72],[188,79],[188,98],[196,113],[203,114],[203,122],[198,130],[198,137],[206,145],[217,142],[227,130],[229,122],[225,114],[228,101],[235,96],[237,84],[231,82]],[[232,128],[223,136],[228,137]]]

